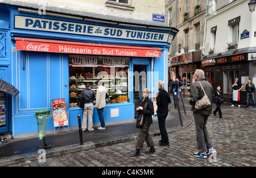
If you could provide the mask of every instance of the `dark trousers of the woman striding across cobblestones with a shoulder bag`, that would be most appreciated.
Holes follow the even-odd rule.
[[[142,149],[144,141],[147,142],[148,147],[154,146],[153,139],[152,139],[151,135],[148,133],[149,128],[150,128],[150,125],[143,124],[143,127],[141,128],[141,130],[139,130],[136,149]]]

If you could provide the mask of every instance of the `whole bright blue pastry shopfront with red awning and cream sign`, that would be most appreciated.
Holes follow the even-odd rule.
[[[148,87],[154,94],[158,80],[168,81],[167,54],[177,33],[174,28],[0,7],[0,36],[5,36],[0,74],[20,91],[16,97],[8,95],[8,127],[0,127],[0,132],[11,132],[13,137],[36,135],[35,111],[52,109],[54,99],[65,100],[68,127],[77,129],[77,115],[82,115],[77,100],[86,82],[96,91],[97,80],[111,99],[104,109],[106,126],[131,121],[141,90]],[[94,108],[93,124],[99,123]],[[55,129],[53,124],[49,119],[48,132]]]

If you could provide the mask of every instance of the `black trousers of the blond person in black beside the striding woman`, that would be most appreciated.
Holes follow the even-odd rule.
[[[158,125],[161,134],[161,142],[169,143],[169,138],[166,130],[166,117],[168,116],[168,112],[158,113]]]

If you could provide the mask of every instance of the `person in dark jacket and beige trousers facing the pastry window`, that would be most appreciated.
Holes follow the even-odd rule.
[[[90,83],[85,83],[85,90],[82,91],[82,97],[84,97],[84,109],[83,109],[83,117],[82,117],[82,131],[85,131],[87,128],[87,117],[88,117],[88,130],[93,131],[93,100],[95,100],[94,91],[90,90]]]

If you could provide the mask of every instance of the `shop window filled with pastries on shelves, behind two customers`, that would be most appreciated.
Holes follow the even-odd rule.
[[[77,107],[87,82],[96,94],[98,80],[108,90],[107,104],[129,103],[128,73],[129,57],[69,55],[69,107]]]

